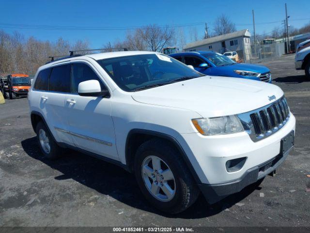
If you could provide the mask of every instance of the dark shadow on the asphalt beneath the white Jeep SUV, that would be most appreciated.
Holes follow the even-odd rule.
[[[142,196],[134,175],[119,166],[109,164],[74,150],[66,150],[64,156],[58,160],[48,160],[41,153],[36,137],[23,140],[21,145],[29,156],[63,174],[55,177],[56,180],[73,179],[99,193],[109,195],[126,205],[166,217],[202,218],[213,216],[243,200],[255,188],[259,189],[255,185],[248,186],[241,192],[230,195],[213,205],[209,205],[202,195],[200,195],[196,203],[185,212],[178,215],[169,215],[155,210]]]

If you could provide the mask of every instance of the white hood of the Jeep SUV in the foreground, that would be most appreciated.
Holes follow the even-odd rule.
[[[283,96],[276,85],[239,78],[204,76],[132,93],[140,103],[182,108],[202,117],[246,113],[263,107],[268,96]]]

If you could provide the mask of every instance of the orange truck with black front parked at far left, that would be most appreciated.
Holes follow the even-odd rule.
[[[4,98],[13,99],[19,96],[27,96],[31,86],[29,75],[27,74],[10,74],[7,80],[4,80],[5,92]]]

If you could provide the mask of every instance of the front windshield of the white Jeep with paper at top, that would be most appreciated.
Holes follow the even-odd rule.
[[[135,91],[203,75],[163,54],[140,54],[97,61],[124,91]]]

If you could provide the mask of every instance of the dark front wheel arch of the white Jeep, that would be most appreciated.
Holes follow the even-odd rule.
[[[196,183],[201,183],[199,176],[197,175],[194,167],[189,161],[186,155],[186,152],[183,150],[180,143],[173,136],[169,134],[160,133],[160,132],[151,131],[151,130],[132,129],[127,135],[126,144],[125,144],[125,159],[126,159],[126,166],[131,172],[133,172],[134,170],[135,152],[137,151],[138,147],[143,142],[148,141],[154,137],[167,140],[169,143],[171,143],[171,145],[180,152],[183,160],[186,163],[186,166],[188,167]]]

